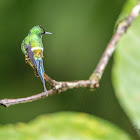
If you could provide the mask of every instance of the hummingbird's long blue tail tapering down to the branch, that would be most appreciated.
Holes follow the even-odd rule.
[[[48,91],[46,89],[46,86],[45,86],[45,80],[44,80],[44,67],[43,67],[43,60],[42,59],[36,59],[35,60],[35,67],[37,69],[37,72],[38,72],[38,75],[43,83],[43,86],[44,86],[44,92],[47,93],[47,96],[48,96]]]

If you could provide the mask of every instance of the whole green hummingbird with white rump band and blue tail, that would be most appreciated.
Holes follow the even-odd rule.
[[[45,30],[40,25],[34,26],[29,31],[29,34],[22,41],[21,50],[25,55],[26,63],[28,63],[34,69],[36,76],[40,77],[44,86],[44,91],[47,92],[44,80],[44,67],[43,67],[43,44],[42,44],[43,34],[52,34],[52,33],[45,32]]]

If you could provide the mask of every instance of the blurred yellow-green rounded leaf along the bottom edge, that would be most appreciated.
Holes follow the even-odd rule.
[[[3,140],[130,140],[107,121],[84,113],[61,112],[24,124],[0,126]]]

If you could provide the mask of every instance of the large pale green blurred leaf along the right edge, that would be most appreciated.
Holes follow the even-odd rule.
[[[130,7],[132,6],[129,2]],[[130,9],[127,4],[127,8]],[[136,5],[136,2],[135,2]],[[126,10],[126,9],[125,9]],[[140,128],[140,17],[121,38],[113,67],[116,95],[134,125]]]

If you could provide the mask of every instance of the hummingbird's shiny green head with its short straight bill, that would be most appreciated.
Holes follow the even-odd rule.
[[[43,34],[52,34],[50,32],[45,32],[45,30],[42,28],[41,25],[37,25],[34,26],[31,30],[30,30],[31,34],[37,34],[37,35],[43,35]]]

